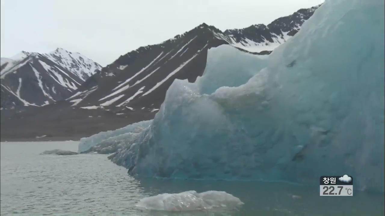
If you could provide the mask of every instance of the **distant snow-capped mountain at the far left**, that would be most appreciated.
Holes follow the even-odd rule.
[[[1,58],[0,65],[1,108],[43,106],[64,100],[102,68],[62,48],[44,54],[22,51]]]

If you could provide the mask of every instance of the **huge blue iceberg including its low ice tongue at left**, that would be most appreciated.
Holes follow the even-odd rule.
[[[269,56],[212,48],[195,83],[175,80],[152,121],[99,133],[134,176],[317,185],[348,174],[384,192],[384,2],[325,0]],[[118,130],[118,131],[119,131]],[[122,133],[123,131],[126,131]]]

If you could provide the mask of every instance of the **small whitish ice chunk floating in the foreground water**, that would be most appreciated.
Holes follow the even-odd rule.
[[[194,211],[212,208],[233,209],[243,203],[235,196],[224,191],[185,191],[182,193],[164,193],[143,198],[137,207],[162,211]]]

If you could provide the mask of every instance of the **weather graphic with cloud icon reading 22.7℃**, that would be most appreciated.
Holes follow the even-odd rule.
[[[321,176],[320,196],[353,196],[353,177]]]

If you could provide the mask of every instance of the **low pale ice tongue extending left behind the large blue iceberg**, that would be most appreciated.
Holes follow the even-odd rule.
[[[119,143],[126,143],[125,139],[129,139],[131,136],[141,132],[143,128],[151,124],[151,121],[152,120],[141,121],[114,131],[103,131],[87,138],[81,138],[79,142],[79,152],[90,152],[90,148],[95,145],[102,145],[112,149],[113,146],[117,146]],[[116,137],[116,139],[113,137]]]

